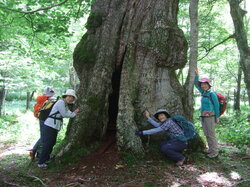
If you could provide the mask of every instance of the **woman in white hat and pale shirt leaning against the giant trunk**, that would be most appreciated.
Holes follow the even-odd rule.
[[[80,110],[77,108],[74,112],[71,112],[68,108],[68,104],[75,102],[75,91],[68,89],[65,94],[62,95],[62,100],[58,100],[48,118],[44,121],[44,130],[42,132],[42,152],[39,158],[38,167],[48,168],[46,161],[49,160],[50,154],[56,144],[57,133],[61,129],[63,118],[74,118]]]

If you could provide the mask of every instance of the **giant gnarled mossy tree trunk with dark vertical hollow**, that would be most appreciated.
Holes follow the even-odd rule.
[[[177,12],[178,0],[95,1],[74,52],[82,112],[69,125],[65,149],[115,130],[120,149],[143,153],[134,132],[147,125],[145,109],[186,116],[175,70],[186,63],[187,42]]]

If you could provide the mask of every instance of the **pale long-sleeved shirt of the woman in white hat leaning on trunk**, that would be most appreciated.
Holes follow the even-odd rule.
[[[57,113],[56,115],[52,115],[52,114],[55,114],[56,112],[59,112],[59,113]],[[73,118],[76,116],[76,113],[71,112],[68,109],[67,104],[63,100],[58,100],[53,106],[53,108],[51,109],[49,116],[50,115],[56,118]],[[44,125],[57,129],[59,131],[62,126],[62,120],[48,117],[45,120]]]

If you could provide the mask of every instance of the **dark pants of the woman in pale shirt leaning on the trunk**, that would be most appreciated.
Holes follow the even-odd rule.
[[[44,131],[42,133],[42,153],[39,158],[38,164],[43,164],[50,158],[50,154],[56,144],[58,131],[47,125],[44,125]]]

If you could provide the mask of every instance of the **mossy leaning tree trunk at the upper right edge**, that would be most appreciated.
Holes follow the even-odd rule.
[[[250,105],[250,47],[248,46],[246,28],[243,22],[246,11],[240,7],[242,1],[228,0],[228,2],[235,28],[235,39],[240,53],[240,65],[244,73],[244,81],[247,88],[248,104]]]

